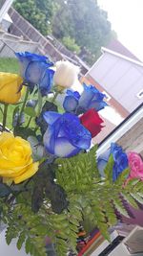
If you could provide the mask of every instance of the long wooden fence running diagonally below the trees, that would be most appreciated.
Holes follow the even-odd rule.
[[[69,59],[74,64],[81,67],[81,73],[86,74],[88,71],[87,65],[79,58],[77,58],[72,52],[66,49],[55,38],[51,41],[47,37],[41,35],[25,18],[23,18],[13,8],[9,10],[12,25],[10,26],[10,34],[23,36],[26,40],[39,43],[39,54],[47,55],[52,61],[61,59]]]

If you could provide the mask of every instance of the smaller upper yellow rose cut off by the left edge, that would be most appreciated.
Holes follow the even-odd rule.
[[[0,72],[0,103],[16,104],[20,97],[23,80],[16,74]]]

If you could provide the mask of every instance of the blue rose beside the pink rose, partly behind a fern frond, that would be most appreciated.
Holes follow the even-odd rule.
[[[104,169],[108,163],[109,157],[112,154],[114,164],[112,168],[112,181],[115,181],[126,168],[128,168],[127,154],[116,143],[111,144],[111,149],[101,154],[97,159],[98,170],[104,176]]]

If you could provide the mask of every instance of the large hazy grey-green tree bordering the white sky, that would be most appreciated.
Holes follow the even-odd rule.
[[[53,19],[53,35],[59,39],[73,37],[81,49],[86,48],[89,57],[97,58],[100,47],[112,37],[107,12],[99,8],[96,0],[56,1],[60,8]]]

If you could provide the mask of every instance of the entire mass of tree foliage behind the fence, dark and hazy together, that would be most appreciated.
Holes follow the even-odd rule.
[[[96,0],[16,0],[15,9],[43,35],[53,34],[79,57],[93,63],[115,36],[107,12]]]

